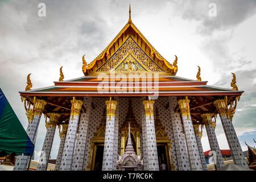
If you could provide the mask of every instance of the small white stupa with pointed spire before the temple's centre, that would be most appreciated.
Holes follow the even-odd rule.
[[[136,155],[134,152],[133,144],[131,143],[131,133],[130,133],[130,123],[129,124],[129,133],[125,152],[122,156],[118,155],[117,160],[117,170],[118,171],[142,171],[143,169],[143,160],[141,155]]]

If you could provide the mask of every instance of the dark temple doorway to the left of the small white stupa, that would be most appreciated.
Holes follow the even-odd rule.
[[[95,145],[95,154],[93,156],[92,171],[101,171],[102,170],[102,160],[104,152],[104,143]]]

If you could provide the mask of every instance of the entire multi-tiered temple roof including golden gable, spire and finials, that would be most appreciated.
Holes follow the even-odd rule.
[[[191,80],[176,76],[177,57],[170,64],[156,51],[131,21],[118,33],[112,42],[87,64],[82,58],[83,77],[54,82],[54,86],[32,89],[28,79],[28,89],[20,96],[33,102],[34,96],[43,97],[48,111],[59,111],[60,121],[68,120],[71,104],[68,97],[139,97],[139,96],[189,96],[192,118],[201,121],[202,112],[215,112],[213,101],[227,97],[227,103],[234,101],[243,92],[237,89],[217,88],[207,85],[207,81]],[[200,77],[200,73],[197,74]],[[235,82],[233,82],[235,84]],[[168,105],[166,106],[168,108]],[[176,107],[176,111],[178,111]],[[65,113],[67,113],[65,115]]]

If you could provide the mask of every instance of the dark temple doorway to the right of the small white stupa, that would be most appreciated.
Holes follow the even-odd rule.
[[[161,165],[166,164],[166,170],[170,170],[170,157],[169,157],[169,152],[168,152],[168,146],[167,143],[160,143],[157,144],[158,148],[158,164],[159,164],[159,169],[162,170]]]

